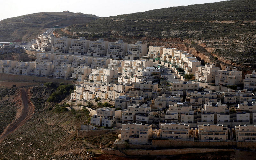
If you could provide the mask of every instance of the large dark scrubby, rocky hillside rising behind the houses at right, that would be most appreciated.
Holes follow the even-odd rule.
[[[206,62],[249,69],[256,68],[255,15],[256,1],[233,0],[99,18],[86,25],[58,29],[55,35],[122,38],[127,42],[141,40],[148,45],[201,53],[198,54],[200,59],[206,52],[213,56]]]

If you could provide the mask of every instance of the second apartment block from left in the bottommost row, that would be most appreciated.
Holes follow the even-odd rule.
[[[189,129],[189,124],[185,123],[164,123],[159,129],[160,138],[188,140]]]

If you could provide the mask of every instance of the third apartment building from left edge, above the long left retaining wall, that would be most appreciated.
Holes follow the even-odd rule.
[[[35,76],[48,77],[53,75],[53,64],[52,62],[45,62],[44,64],[36,64]]]

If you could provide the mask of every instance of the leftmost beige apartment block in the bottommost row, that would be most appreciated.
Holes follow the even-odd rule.
[[[128,123],[122,125],[121,142],[147,144],[151,137],[152,125],[143,123]]]

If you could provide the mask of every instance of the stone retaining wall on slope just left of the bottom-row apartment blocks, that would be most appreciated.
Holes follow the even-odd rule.
[[[118,133],[119,130],[77,130],[77,137],[84,138],[84,137],[91,137],[91,136],[98,136],[106,133]]]

